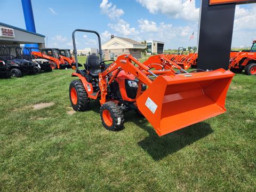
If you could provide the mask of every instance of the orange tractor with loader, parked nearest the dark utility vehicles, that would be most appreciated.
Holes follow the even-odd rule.
[[[52,69],[65,69],[66,67],[69,67],[69,64],[63,60],[63,58],[60,57],[58,49],[54,48],[44,48],[44,49],[37,49],[38,51],[32,51],[31,54],[34,55],[34,57],[41,58],[41,59],[47,59],[49,60],[49,63],[51,64]]]

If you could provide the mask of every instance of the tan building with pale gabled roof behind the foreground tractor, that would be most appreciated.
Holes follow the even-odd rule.
[[[111,35],[109,41],[102,44],[102,52],[105,60],[115,60],[119,55],[131,54],[134,58],[141,58],[141,50],[146,45],[130,38],[115,37]]]

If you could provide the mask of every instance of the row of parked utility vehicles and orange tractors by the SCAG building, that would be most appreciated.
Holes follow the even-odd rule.
[[[50,72],[53,69],[75,69],[68,49],[0,46],[0,77],[22,77],[25,74]]]

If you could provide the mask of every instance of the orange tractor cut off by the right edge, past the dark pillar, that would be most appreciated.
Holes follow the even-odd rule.
[[[256,75],[256,41],[253,41],[251,50],[239,52],[230,59],[229,69],[236,73],[245,70],[247,75]]]

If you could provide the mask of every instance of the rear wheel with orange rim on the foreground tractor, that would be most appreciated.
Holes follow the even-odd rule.
[[[85,111],[89,107],[90,98],[84,89],[83,83],[78,79],[69,85],[69,99],[75,111]]]

